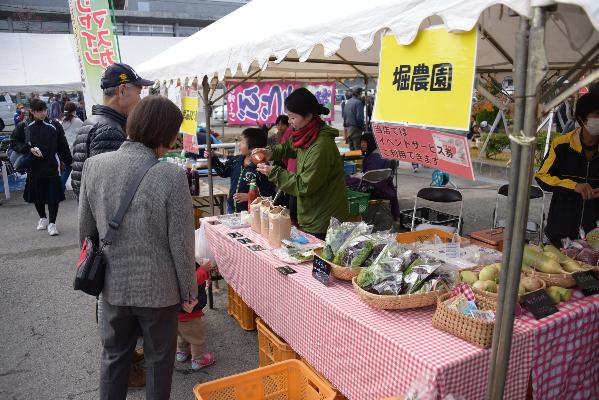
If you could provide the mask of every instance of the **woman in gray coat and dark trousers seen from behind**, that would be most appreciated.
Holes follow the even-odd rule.
[[[175,143],[183,115],[160,96],[143,99],[127,121],[119,150],[83,167],[79,240],[103,238],[134,172]],[[105,249],[107,269],[99,330],[103,345],[100,398],[125,399],[138,332],[144,340],[146,398],[168,399],[177,341],[177,315],[197,303],[194,226],[185,172],[158,163],[147,172]]]

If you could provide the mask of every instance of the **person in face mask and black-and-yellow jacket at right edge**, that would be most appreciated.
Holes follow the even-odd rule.
[[[599,221],[599,93],[578,99],[574,117],[579,127],[553,140],[535,175],[553,193],[545,235],[556,247]]]

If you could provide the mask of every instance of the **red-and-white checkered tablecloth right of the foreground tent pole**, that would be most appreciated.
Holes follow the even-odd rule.
[[[534,335],[535,400],[599,399],[599,296],[579,290],[560,312],[539,321],[525,313],[518,324]]]

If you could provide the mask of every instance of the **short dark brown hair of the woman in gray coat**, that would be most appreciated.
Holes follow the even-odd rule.
[[[156,149],[170,147],[181,128],[183,113],[163,96],[147,96],[127,118],[129,139]]]

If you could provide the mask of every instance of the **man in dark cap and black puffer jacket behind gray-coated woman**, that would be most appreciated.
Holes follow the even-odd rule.
[[[71,185],[77,197],[85,160],[121,147],[127,139],[127,115],[141,100],[141,88],[153,84],[127,64],[113,64],[104,71],[100,85],[104,90],[104,104],[92,107],[92,116],[79,129],[73,145]]]

